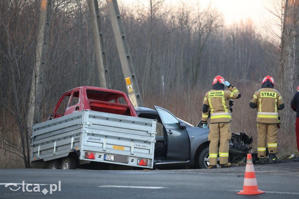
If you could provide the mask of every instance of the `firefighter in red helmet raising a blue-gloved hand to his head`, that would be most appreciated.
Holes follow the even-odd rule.
[[[224,86],[227,86],[229,91],[224,91]],[[219,162],[221,168],[231,166],[231,163],[228,163],[229,140],[231,139],[231,111],[229,109],[229,99],[238,99],[240,97],[241,94],[237,88],[219,75],[213,80],[213,90],[205,94],[202,107],[203,128],[208,129],[209,110],[211,116],[208,135],[208,140],[210,141],[210,166],[208,169],[215,169],[217,166],[219,139]]]

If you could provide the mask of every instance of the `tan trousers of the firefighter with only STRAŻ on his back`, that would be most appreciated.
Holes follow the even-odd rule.
[[[266,148],[269,153],[277,154],[277,124],[257,123],[257,157],[266,158]]]

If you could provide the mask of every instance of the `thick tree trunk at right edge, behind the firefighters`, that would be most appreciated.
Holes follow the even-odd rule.
[[[295,113],[290,108],[290,104],[299,83],[298,32],[299,0],[286,0],[279,74],[280,93],[286,107],[281,111],[282,129],[280,131],[283,131],[283,137],[295,136]],[[290,143],[290,149],[295,148],[295,137],[288,140],[294,140]]]

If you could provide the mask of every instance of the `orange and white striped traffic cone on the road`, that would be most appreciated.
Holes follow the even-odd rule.
[[[256,195],[261,193],[265,192],[257,188],[257,179],[255,178],[252,157],[251,154],[247,154],[243,190],[238,192],[237,194]]]

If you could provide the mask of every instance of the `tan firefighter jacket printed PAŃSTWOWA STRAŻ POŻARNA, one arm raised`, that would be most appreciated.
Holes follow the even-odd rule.
[[[229,99],[238,99],[241,94],[234,85],[228,87],[229,91],[210,90],[205,94],[202,107],[202,123],[208,123],[209,110],[211,111],[211,124],[231,122]]]

